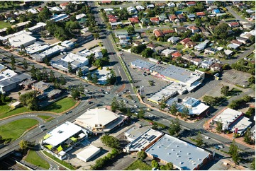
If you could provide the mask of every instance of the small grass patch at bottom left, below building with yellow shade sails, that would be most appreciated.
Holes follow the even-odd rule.
[[[40,156],[35,151],[29,151],[25,160],[28,163],[43,167],[47,170],[50,168],[49,163],[47,161],[43,160],[43,158],[40,158]]]

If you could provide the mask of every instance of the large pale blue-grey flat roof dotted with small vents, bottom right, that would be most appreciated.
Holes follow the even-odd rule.
[[[202,148],[167,134],[145,152],[167,163],[173,163],[180,170],[194,170],[210,154]]]

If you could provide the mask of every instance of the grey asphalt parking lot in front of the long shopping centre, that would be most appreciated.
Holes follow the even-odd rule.
[[[143,70],[133,69],[132,67],[130,67],[130,62],[138,59],[138,55],[130,54],[128,52],[123,52],[123,54],[124,54],[123,60],[126,62],[126,65],[128,66],[130,74],[133,77],[134,85],[138,87],[144,86],[145,95],[147,94],[150,95],[152,93],[155,93],[158,90],[161,90],[161,88],[169,85],[167,81],[163,81],[160,78],[155,78],[151,75],[148,75],[148,73],[145,73],[145,71]],[[143,58],[140,58],[140,59],[148,61],[147,59],[143,59]],[[152,82],[152,86],[150,86],[150,81]]]

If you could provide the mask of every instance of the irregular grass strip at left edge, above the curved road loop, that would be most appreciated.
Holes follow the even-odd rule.
[[[9,117],[14,114],[30,112],[30,110],[28,110],[27,107],[18,107],[15,110],[11,110],[11,111],[9,111],[9,110],[11,110],[11,107],[9,107],[8,105],[0,106],[0,119]]]

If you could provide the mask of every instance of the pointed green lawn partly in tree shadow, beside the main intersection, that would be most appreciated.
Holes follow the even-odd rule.
[[[72,98],[62,98],[57,102],[54,102],[46,107],[44,107],[43,111],[61,113],[65,110],[68,110],[70,107],[74,106],[77,102]]]

